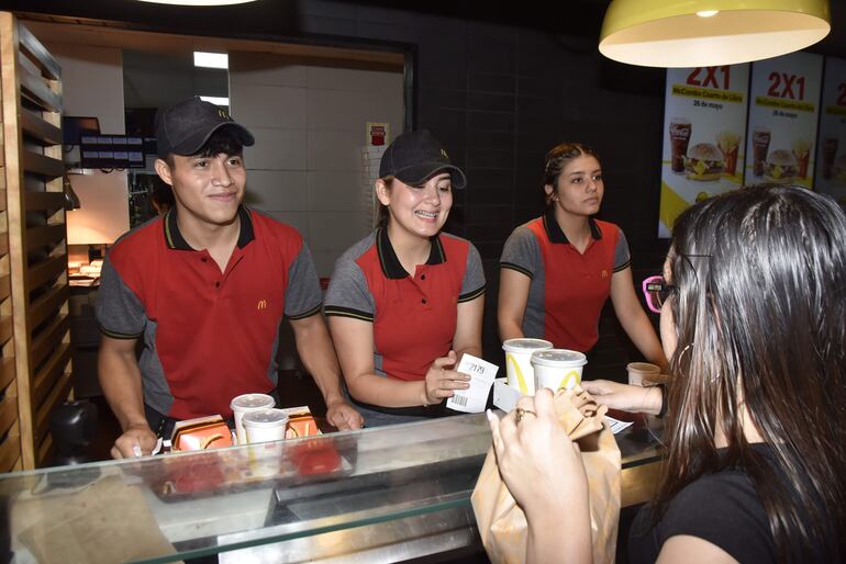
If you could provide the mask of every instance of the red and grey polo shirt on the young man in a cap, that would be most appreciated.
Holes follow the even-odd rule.
[[[103,264],[100,328],[143,338],[144,402],[176,419],[230,417],[233,397],[274,390],[282,316],[320,313],[320,282],[300,234],[243,206],[238,217],[225,272],[188,245],[176,208],[124,235]]]

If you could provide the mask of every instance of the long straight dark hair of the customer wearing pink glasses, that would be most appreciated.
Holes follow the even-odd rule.
[[[655,518],[699,476],[739,467],[780,557],[833,561],[846,526],[846,215],[802,188],[746,188],[682,213],[669,260],[678,347]],[[747,442],[744,404],[777,469]]]

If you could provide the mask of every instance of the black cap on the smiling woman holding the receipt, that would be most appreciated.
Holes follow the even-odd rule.
[[[449,162],[449,156],[441,142],[427,129],[421,129],[399,135],[385,149],[379,165],[379,178],[394,177],[405,184],[419,187],[442,170],[450,173],[454,188],[467,184],[464,172]]]

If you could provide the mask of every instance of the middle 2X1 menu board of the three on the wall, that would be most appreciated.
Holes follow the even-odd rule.
[[[792,53],[753,64],[745,183],[813,188],[823,57]]]

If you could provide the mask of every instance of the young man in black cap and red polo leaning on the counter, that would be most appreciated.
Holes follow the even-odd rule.
[[[282,317],[329,422],[359,428],[308,247],[292,227],[241,205],[253,135],[199,98],[160,112],[156,135],[156,172],[176,206],[118,240],[97,303],[100,383],[123,429],[112,455],[148,454],[175,420],[231,417],[237,395],[275,394]]]

